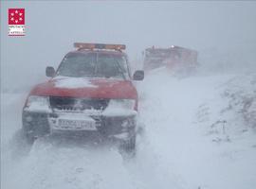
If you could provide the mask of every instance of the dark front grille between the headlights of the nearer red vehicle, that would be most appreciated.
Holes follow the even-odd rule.
[[[103,111],[109,103],[109,99],[104,98],[74,98],[50,96],[49,103],[51,108],[58,111]]]

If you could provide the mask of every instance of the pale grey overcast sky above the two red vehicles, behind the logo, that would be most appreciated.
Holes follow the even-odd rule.
[[[25,37],[8,37],[9,8],[26,9]],[[0,29],[7,83],[17,66],[21,76],[56,67],[74,42],[125,43],[131,60],[152,45],[256,52],[256,2],[1,1]]]

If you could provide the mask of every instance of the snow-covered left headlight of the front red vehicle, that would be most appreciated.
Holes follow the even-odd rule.
[[[49,112],[49,98],[47,96],[30,95],[27,98],[27,111]]]

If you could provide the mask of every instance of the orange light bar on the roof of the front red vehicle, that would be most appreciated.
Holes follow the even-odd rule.
[[[82,49],[112,49],[112,50],[124,50],[125,44],[106,44],[106,43],[74,43],[74,47]]]

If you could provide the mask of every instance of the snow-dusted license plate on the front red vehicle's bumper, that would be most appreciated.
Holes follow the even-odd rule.
[[[97,130],[94,121],[59,119],[56,129]]]

